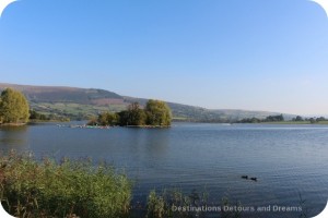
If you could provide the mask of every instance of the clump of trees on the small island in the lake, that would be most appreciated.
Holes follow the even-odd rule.
[[[120,112],[103,112],[92,119],[89,125],[120,125],[120,126],[169,126],[172,112],[166,102],[149,100],[144,108],[132,102],[127,110]]]

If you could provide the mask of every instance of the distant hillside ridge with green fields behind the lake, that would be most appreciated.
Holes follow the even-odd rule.
[[[145,98],[120,96],[116,93],[97,88],[78,88],[66,86],[33,86],[0,83],[0,90],[11,87],[22,92],[32,109],[44,113],[56,113],[72,119],[87,119],[103,111],[120,111],[131,102],[144,106]],[[266,118],[278,112],[218,109],[167,102],[173,117],[177,120],[195,122],[231,122],[244,118]],[[284,114],[291,119],[292,114]]]

